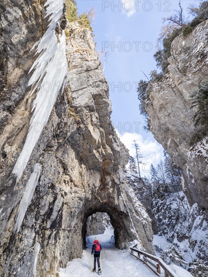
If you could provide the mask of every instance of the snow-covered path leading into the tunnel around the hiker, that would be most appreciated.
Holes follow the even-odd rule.
[[[87,249],[83,250],[81,259],[74,259],[69,262],[68,267],[60,268],[60,277],[69,276],[96,276],[91,272],[91,247],[95,236],[86,238]],[[106,229],[102,235],[96,235],[102,245],[101,266],[102,276],[156,276],[142,262],[130,255],[129,250],[120,250],[114,246],[113,230]],[[97,269],[97,268],[96,268]]]

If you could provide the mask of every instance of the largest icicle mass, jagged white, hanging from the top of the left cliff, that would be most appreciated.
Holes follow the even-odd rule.
[[[36,90],[37,94],[33,101],[33,115],[30,119],[30,128],[26,141],[12,172],[17,176],[17,182],[23,174],[23,165],[25,168],[41,135],[44,124],[48,121],[59,92],[61,89],[63,92],[66,86],[68,72],[66,53],[64,51],[66,36],[64,31],[59,35],[55,31],[63,15],[64,1],[48,0],[45,3],[46,17],[50,16],[48,28],[42,38],[32,48],[37,47],[35,55],[39,55],[29,71],[30,73],[34,70],[28,86],[32,86],[30,95]]]

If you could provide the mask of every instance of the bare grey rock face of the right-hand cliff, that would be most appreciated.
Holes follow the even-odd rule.
[[[207,80],[207,25],[205,21],[184,37],[176,37],[169,58],[169,74],[152,84],[146,111],[154,138],[181,170],[190,204],[208,209],[208,139],[189,146],[195,132],[190,96]]]

